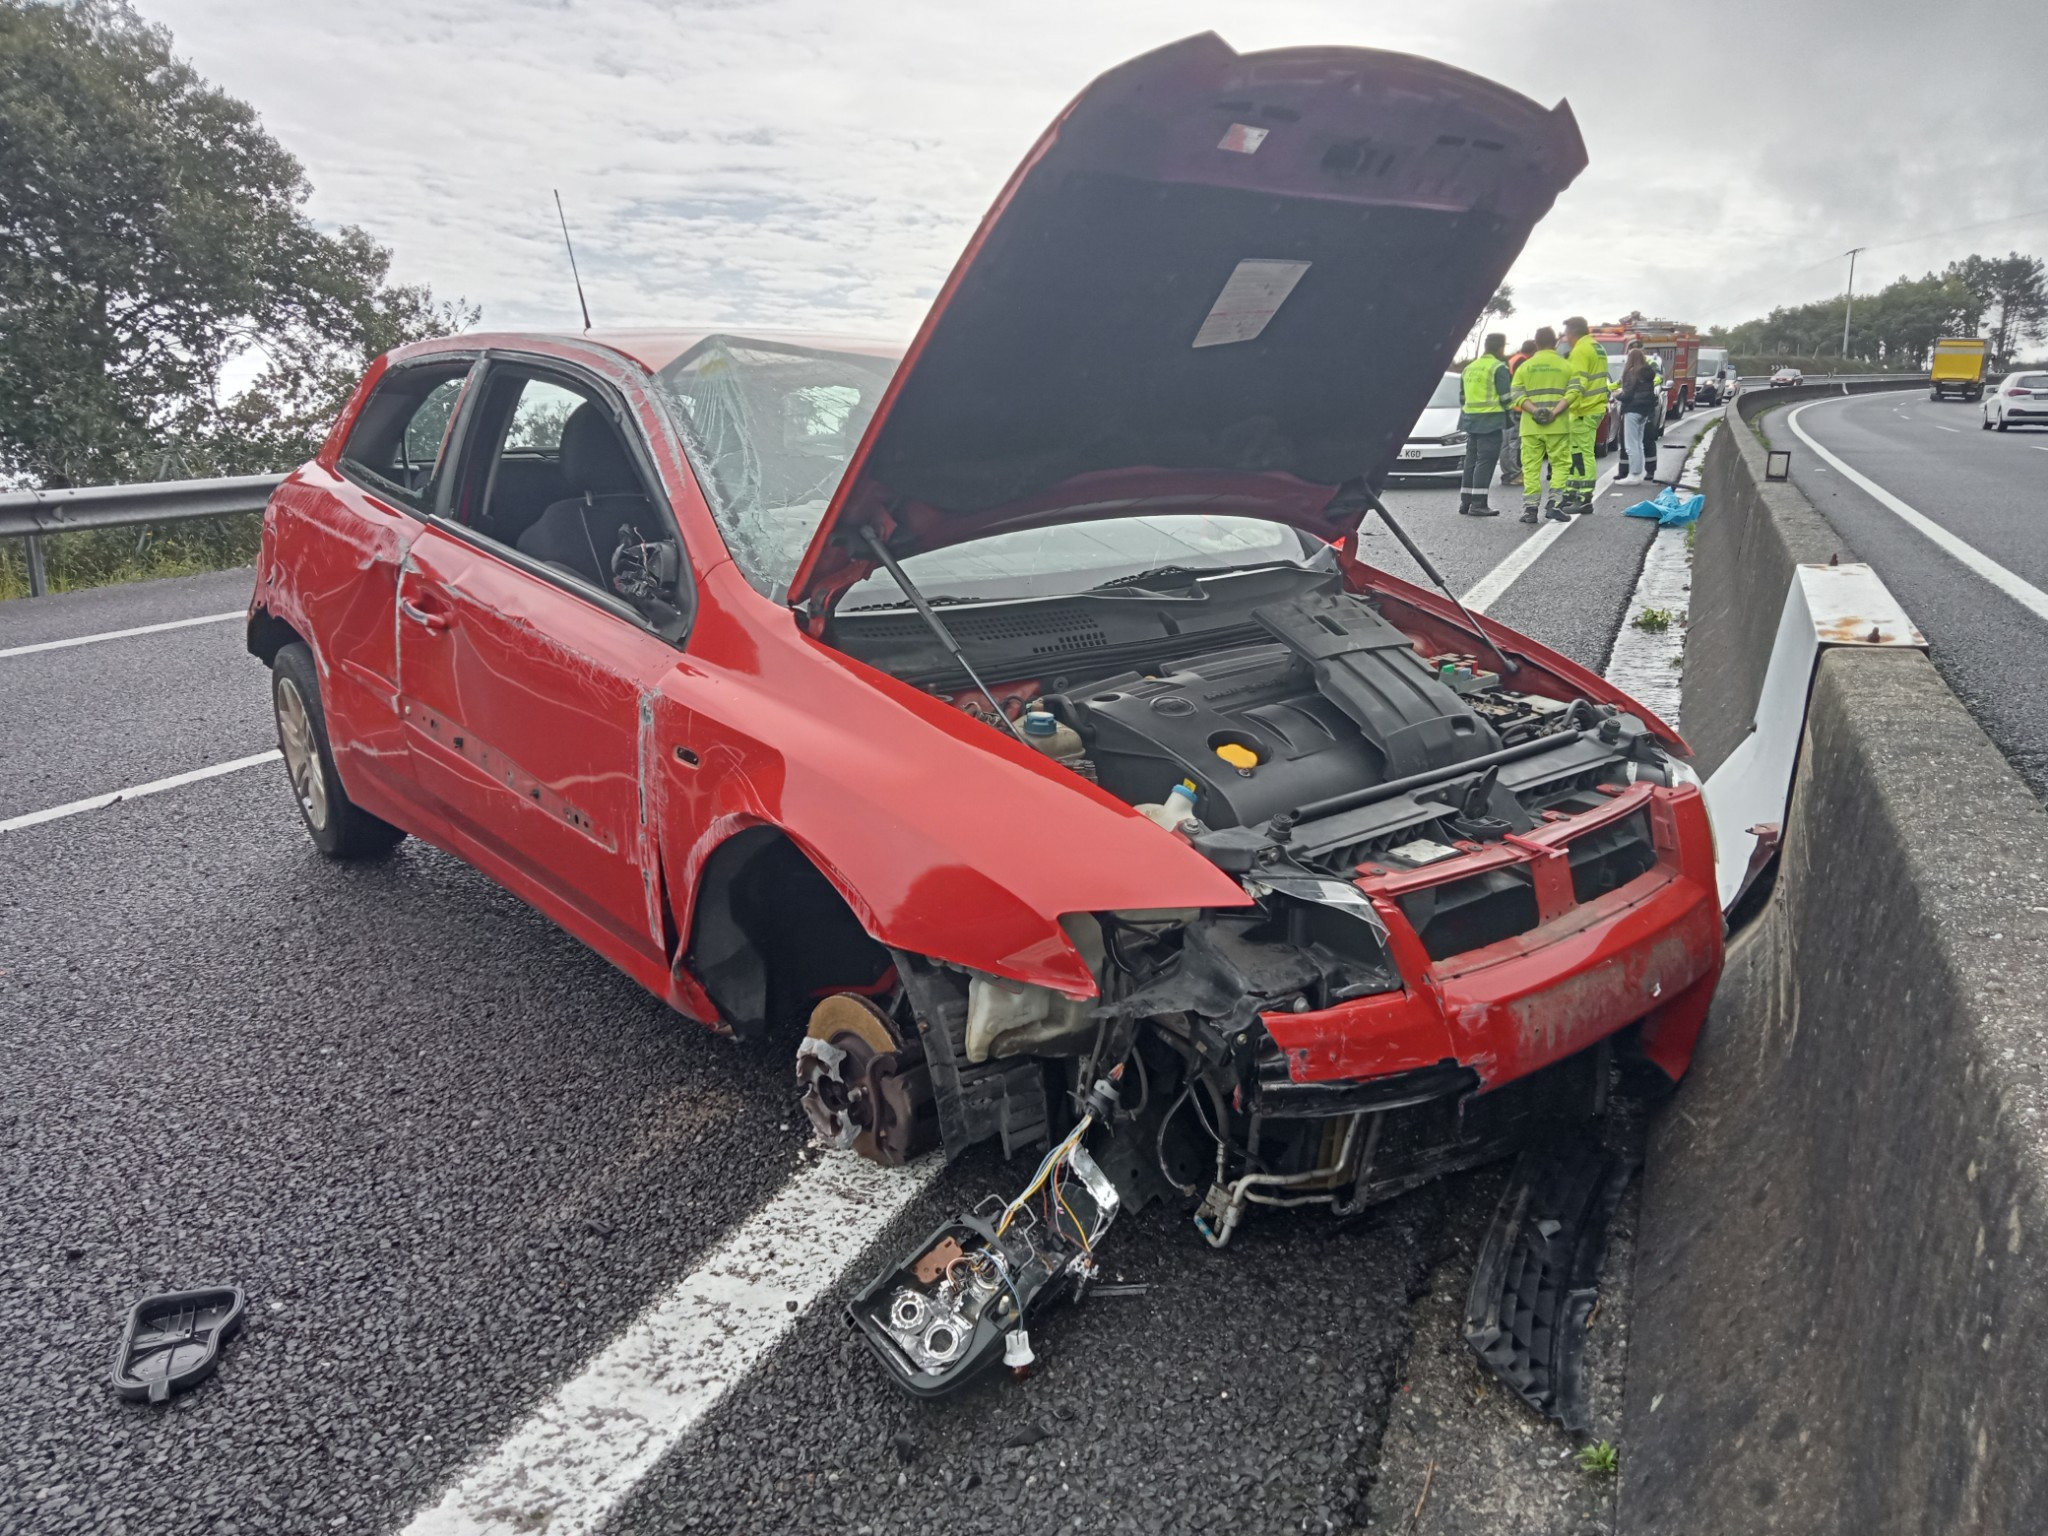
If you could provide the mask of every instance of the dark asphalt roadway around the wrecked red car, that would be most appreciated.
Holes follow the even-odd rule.
[[[1491,612],[1602,666],[1651,537],[1626,500],[1544,535]],[[1454,489],[1389,504],[1460,590],[1532,532],[1458,518]],[[1405,569],[1391,543],[1370,557]],[[236,621],[23,649],[231,612],[248,582],[0,606],[6,1532],[434,1528],[465,1468],[817,1161],[788,1053],[668,1014],[420,842],[322,862],[274,762],[8,827],[272,745]],[[1180,1212],[1130,1214],[1104,1260],[1149,1290],[1055,1313],[1024,1384],[901,1399],[840,1300],[1026,1171],[967,1159],[868,1257],[834,1253],[575,1530],[1362,1526],[1446,1194],[1348,1225],[1262,1212],[1225,1253]],[[250,1298],[217,1378],[117,1401],[125,1309],[209,1282]]]

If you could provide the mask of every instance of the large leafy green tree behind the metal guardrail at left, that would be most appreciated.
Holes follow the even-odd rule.
[[[125,0],[0,0],[0,473],[289,469],[362,362],[475,324],[305,217],[299,162]],[[264,369],[221,399],[221,369]]]

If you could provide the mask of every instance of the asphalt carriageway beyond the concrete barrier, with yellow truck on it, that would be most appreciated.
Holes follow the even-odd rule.
[[[1982,432],[1974,401],[1931,401],[1923,389],[1790,416],[1774,410],[1761,426],[1792,449],[1794,483],[1876,567],[1950,688],[2048,799],[2048,690],[2034,672],[2048,641],[2048,430]],[[1944,547],[1892,502],[1960,545]]]

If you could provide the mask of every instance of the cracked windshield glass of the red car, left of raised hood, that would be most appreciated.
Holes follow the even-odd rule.
[[[727,547],[788,592],[897,360],[707,336],[655,375]]]

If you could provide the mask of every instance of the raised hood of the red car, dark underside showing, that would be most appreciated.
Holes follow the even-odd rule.
[[[1010,528],[1231,512],[1337,539],[1481,305],[1585,168],[1571,109],[1405,53],[1110,70],[946,279],[791,582],[829,604],[862,528],[913,555]]]

